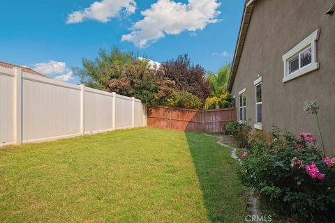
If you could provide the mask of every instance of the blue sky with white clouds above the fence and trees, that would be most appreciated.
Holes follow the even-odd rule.
[[[214,72],[232,61],[244,0],[94,2],[3,1],[0,61],[73,83],[70,68],[113,45],[158,62],[188,53]]]

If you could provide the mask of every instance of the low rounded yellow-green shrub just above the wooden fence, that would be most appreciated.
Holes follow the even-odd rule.
[[[200,98],[187,91],[180,91],[172,93],[165,105],[185,109],[200,109],[202,107],[202,101]]]

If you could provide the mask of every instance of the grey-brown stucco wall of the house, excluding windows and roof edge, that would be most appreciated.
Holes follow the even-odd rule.
[[[333,3],[333,0],[256,1],[232,95],[236,95],[239,107],[239,91],[246,88],[246,118],[251,118],[253,125],[253,81],[262,76],[263,130],[276,125],[293,133],[313,132],[320,146],[315,117],[302,112],[302,102],[316,100],[320,105],[325,147],[329,154],[335,155],[335,15],[325,15]],[[283,83],[283,54],[316,29],[320,29],[320,68]]]

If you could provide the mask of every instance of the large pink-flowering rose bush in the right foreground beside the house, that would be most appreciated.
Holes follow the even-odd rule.
[[[313,134],[299,136],[278,129],[269,132],[270,142],[251,138],[239,167],[242,182],[256,193],[282,203],[300,218],[334,215],[335,158],[322,157]]]

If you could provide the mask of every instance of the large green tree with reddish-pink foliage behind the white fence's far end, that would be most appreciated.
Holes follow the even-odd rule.
[[[133,52],[121,52],[117,47],[110,54],[100,49],[94,61],[82,59],[82,66],[75,68],[82,84],[135,97],[148,107],[159,105],[174,91],[174,82],[165,79],[162,70],[151,69],[149,60],[139,59]]]

